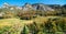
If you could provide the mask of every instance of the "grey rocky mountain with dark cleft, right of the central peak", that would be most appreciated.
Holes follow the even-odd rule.
[[[34,8],[36,8],[36,10],[41,10],[41,11],[54,11],[54,9],[50,8],[46,4],[43,3],[34,3],[32,4]]]

